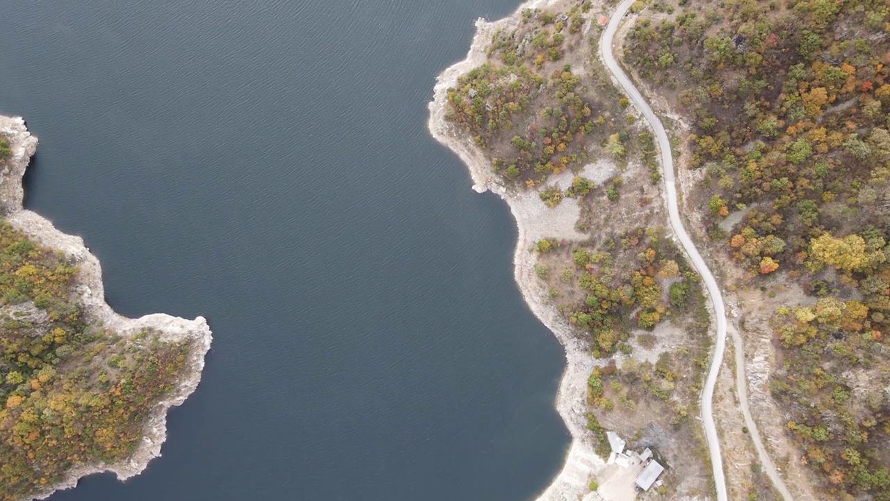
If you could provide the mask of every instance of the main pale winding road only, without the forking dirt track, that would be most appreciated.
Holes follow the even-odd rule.
[[[716,425],[714,424],[714,385],[717,381],[717,373],[720,372],[720,365],[723,364],[724,351],[726,349],[726,310],[724,308],[723,295],[720,288],[717,287],[716,279],[705,264],[705,260],[701,258],[699,250],[695,248],[689,234],[683,226],[680,219],[680,211],[677,209],[676,201],[676,182],[674,179],[674,156],[671,154],[670,141],[667,139],[665,127],[661,124],[661,120],[655,116],[649,103],[643,99],[643,95],[636,89],[634,83],[627,78],[624,71],[621,70],[618,62],[612,54],[612,38],[618,31],[621,19],[630,9],[631,4],[635,0],[624,0],[619,4],[618,8],[612,14],[609,25],[603,33],[603,39],[600,43],[600,53],[603,55],[603,62],[606,68],[611,72],[622,87],[624,87],[627,97],[634,102],[636,108],[643,112],[643,117],[649,121],[655,137],[658,139],[659,150],[661,152],[661,168],[665,180],[665,194],[667,196],[667,214],[670,219],[670,226],[674,229],[677,239],[683,245],[689,259],[692,260],[692,266],[698,270],[701,279],[708,288],[708,295],[714,305],[714,317],[716,319],[716,345],[714,348],[714,359],[711,360],[711,367],[708,371],[708,379],[705,380],[705,388],[701,392],[701,419],[705,427],[705,438],[708,440],[708,450],[711,455],[711,468],[714,470],[714,484],[716,486],[717,501],[727,501],[726,497],[726,479],[723,470],[723,456],[720,454],[720,441],[717,439]]]

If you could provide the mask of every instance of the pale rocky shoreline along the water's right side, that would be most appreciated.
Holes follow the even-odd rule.
[[[496,193],[509,205],[519,230],[514,250],[514,279],[532,313],[554,333],[565,349],[566,368],[556,394],[555,407],[570,432],[571,446],[562,471],[541,493],[538,501],[588,501],[599,498],[590,491],[589,482],[595,472],[604,466],[603,458],[596,455],[592,436],[587,431],[587,378],[595,366],[595,359],[573,335],[571,325],[548,299],[547,291],[534,271],[535,254],[530,251],[534,242],[544,237],[567,240],[586,238],[578,234],[574,227],[578,220],[578,206],[562,203],[555,209],[549,209],[539,199],[537,191],[508,189],[472,139],[456,131],[445,120],[448,88],[457,84],[460,75],[487,60],[485,50],[492,34],[497,29],[517,26],[522,20],[522,10],[545,8],[554,3],[554,0],[531,0],[520,5],[514,14],[505,19],[494,22],[477,20],[473,44],[466,58],[442,71],[436,79],[433,102],[429,104],[428,127],[433,138],[455,152],[464,162],[473,178],[474,191]]]

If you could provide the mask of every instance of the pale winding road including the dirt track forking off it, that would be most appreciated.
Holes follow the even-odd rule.
[[[716,425],[714,423],[714,386],[717,380],[717,374],[720,372],[720,366],[723,365],[723,356],[726,348],[726,310],[724,308],[723,294],[717,286],[716,279],[701,258],[699,250],[686,233],[683,221],[680,219],[680,212],[677,208],[676,200],[676,181],[674,177],[674,158],[671,153],[670,142],[667,139],[665,127],[661,124],[661,120],[655,116],[649,103],[643,99],[643,95],[637,90],[634,83],[627,78],[627,75],[621,70],[618,62],[615,61],[612,53],[612,39],[618,31],[619,24],[624,18],[630,6],[635,0],[624,0],[619,4],[618,8],[612,14],[611,20],[603,33],[603,39],[600,43],[600,53],[603,56],[603,62],[606,68],[611,72],[612,76],[618,80],[619,84],[624,87],[627,97],[635,104],[639,111],[643,112],[643,117],[649,122],[655,136],[658,138],[659,151],[661,153],[661,167],[665,180],[665,196],[667,198],[667,214],[670,219],[670,226],[673,228],[677,239],[683,245],[686,254],[692,261],[692,266],[698,270],[701,279],[708,288],[708,295],[714,306],[714,316],[716,318],[716,346],[714,349],[714,359],[708,371],[708,378],[705,381],[705,387],[701,392],[701,419],[705,428],[705,437],[708,440],[708,450],[711,456],[711,467],[714,471],[714,484],[716,487],[716,495],[718,501],[727,501],[726,497],[726,479],[724,477],[723,456],[720,454],[720,441],[717,437]],[[745,366],[744,357],[741,346],[740,334],[733,330],[733,341],[735,343],[735,362],[736,362],[736,390],[739,394],[740,410],[745,419],[745,423],[750,431],[751,439],[757,451],[757,456],[764,467],[764,472],[773,481],[773,485],[779,490],[785,501],[792,501],[791,494],[785,483],[781,480],[779,472],[773,463],[772,458],[766,453],[760,433],[757,431],[754,420],[751,418],[748,409],[748,388],[745,383]]]

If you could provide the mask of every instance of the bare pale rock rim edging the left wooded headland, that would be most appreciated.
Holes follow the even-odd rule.
[[[5,136],[12,150],[10,158],[0,171],[0,207],[4,218],[12,226],[20,229],[29,238],[46,247],[61,250],[69,259],[77,263],[79,272],[75,277],[75,290],[80,296],[88,318],[101,322],[120,335],[134,335],[143,329],[157,332],[162,340],[189,341],[189,360],[185,374],[166,398],[152,409],[145,423],[143,439],[133,456],[117,464],[84,464],[69,470],[58,483],[48,486],[36,495],[36,499],[49,497],[56,490],[70,489],[77,480],[100,472],[113,472],[118,480],[126,480],[141,473],[151,459],[161,455],[161,445],[166,439],[166,414],[170,407],[179,406],[198,388],[204,357],[213,339],[210,327],[203,316],[194,320],[164,314],[146,315],[140,318],[127,318],[114,312],[105,302],[99,260],[85,247],[78,236],[63,234],[46,218],[22,207],[24,189],[22,176],[28,162],[36,152],[37,138],[28,132],[24,119],[0,117],[0,134]]]

